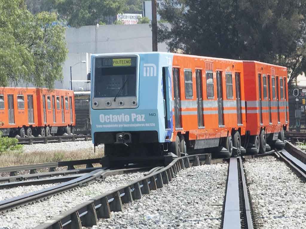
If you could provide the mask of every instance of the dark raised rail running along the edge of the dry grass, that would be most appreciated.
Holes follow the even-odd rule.
[[[57,167],[65,167],[67,166],[68,170],[75,169],[74,165],[82,165],[86,164],[87,168],[93,167],[92,164],[100,163],[100,158],[95,159],[86,159],[86,160],[76,160],[76,161],[60,161],[60,162],[49,162],[43,164],[29,164],[29,165],[21,165],[21,166],[10,166],[10,167],[1,167],[1,172],[9,172],[11,176],[17,175],[17,172],[23,170],[30,170],[30,174],[38,173],[37,169],[41,168],[49,168],[50,172],[54,172]]]

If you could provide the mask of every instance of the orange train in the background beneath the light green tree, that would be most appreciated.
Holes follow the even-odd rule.
[[[75,126],[72,90],[0,88],[0,127],[7,136],[70,134]]]

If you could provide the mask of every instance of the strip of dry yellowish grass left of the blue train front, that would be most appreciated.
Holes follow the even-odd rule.
[[[21,150],[6,151],[0,155],[0,167],[18,166],[27,164],[40,164],[47,162],[72,161],[99,158],[104,156],[103,148],[93,150],[82,149],[74,151],[54,150],[52,152],[29,152]]]

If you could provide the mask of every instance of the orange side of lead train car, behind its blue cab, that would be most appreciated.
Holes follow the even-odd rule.
[[[244,150],[243,62],[174,54],[172,75],[173,147],[180,142],[182,153],[224,147],[229,155]]]

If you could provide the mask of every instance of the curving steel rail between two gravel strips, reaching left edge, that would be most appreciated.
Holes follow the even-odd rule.
[[[93,182],[97,178],[105,178],[109,175],[121,174],[124,172],[132,172],[139,171],[141,169],[147,169],[147,167],[143,168],[125,168],[125,169],[115,169],[109,170],[107,168],[100,168],[96,171],[92,171],[88,174],[84,174],[81,177],[75,178],[73,180],[67,181],[65,183],[61,183],[52,187],[44,188],[42,190],[37,190],[34,192],[26,193],[21,196],[13,197],[10,199],[6,199],[0,201],[0,212],[28,204],[30,202],[46,198],[48,196],[52,196],[58,193],[62,193],[66,190],[73,189],[75,187],[84,186],[87,183]]]

